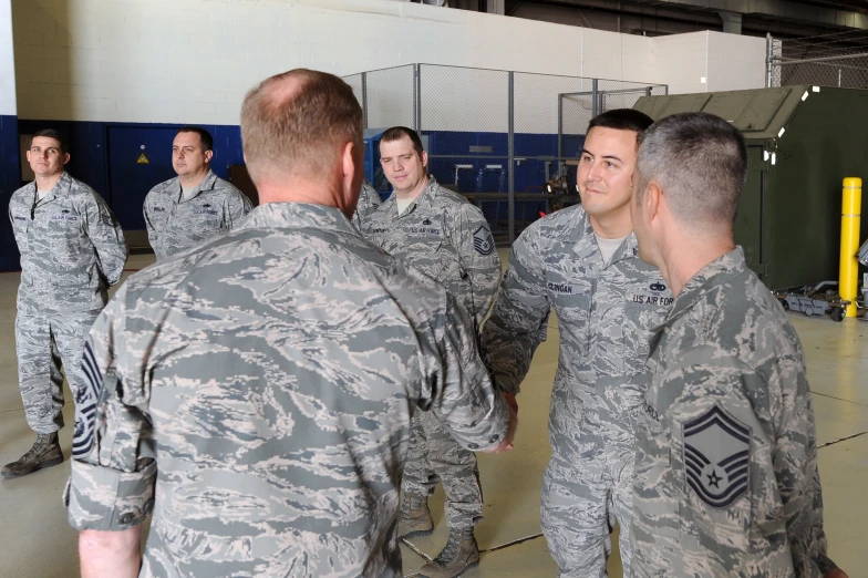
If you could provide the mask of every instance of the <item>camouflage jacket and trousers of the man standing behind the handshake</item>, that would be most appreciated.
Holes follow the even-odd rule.
[[[500,279],[500,258],[482,211],[462,195],[431,178],[399,216],[392,194],[374,211],[368,237],[389,254],[443,283],[475,319],[485,319]],[[469,328],[468,328],[469,330]],[[402,488],[427,496],[437,481],[446,493],[450,527],[466,529],[483,515],[476,455],[461,447],[428,414],[411,429],[410,453]]]

